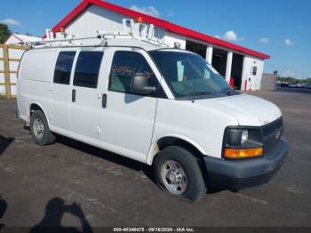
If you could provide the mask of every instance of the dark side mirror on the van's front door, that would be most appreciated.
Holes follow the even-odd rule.
[[[137,73],[132,77],[132,92],[151,94],[156,92],[156,86],[148,86],[148,76],[144,73]]]

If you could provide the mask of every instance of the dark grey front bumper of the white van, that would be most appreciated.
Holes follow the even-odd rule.
[[[282,167],[288,151],[289,143],[282,139],[264,157],[238,161],[204,157],[208,179],[211,185],[227,189],[244,189],[267,183]]]

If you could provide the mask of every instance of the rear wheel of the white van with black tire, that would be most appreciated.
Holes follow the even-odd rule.
[[[38,136],[36,130],[36,122],[40,122],[43,125],[42,133],[40,133],[40,136]],[[46,117],[41,110],[36,110],[30,116],[30,132],[33,140],[36,142],[37,145],[40,146],[52,144],[56,140],[55,135],[50,131]]]

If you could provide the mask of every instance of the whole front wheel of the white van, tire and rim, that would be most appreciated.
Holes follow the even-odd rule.
[[[163,149],[156,156],[154,170],[159,187],[171,197],[195,202],[206,194],[198,160],[186,149]]]

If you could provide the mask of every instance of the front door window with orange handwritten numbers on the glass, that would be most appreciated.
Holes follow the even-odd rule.
[[[148,76],[148,85],[155,86],[156,76],[148,65],[147,60],[139,52],[116,52],[110,71],[109,90],[132,93],[132,77],[137,73]]]

